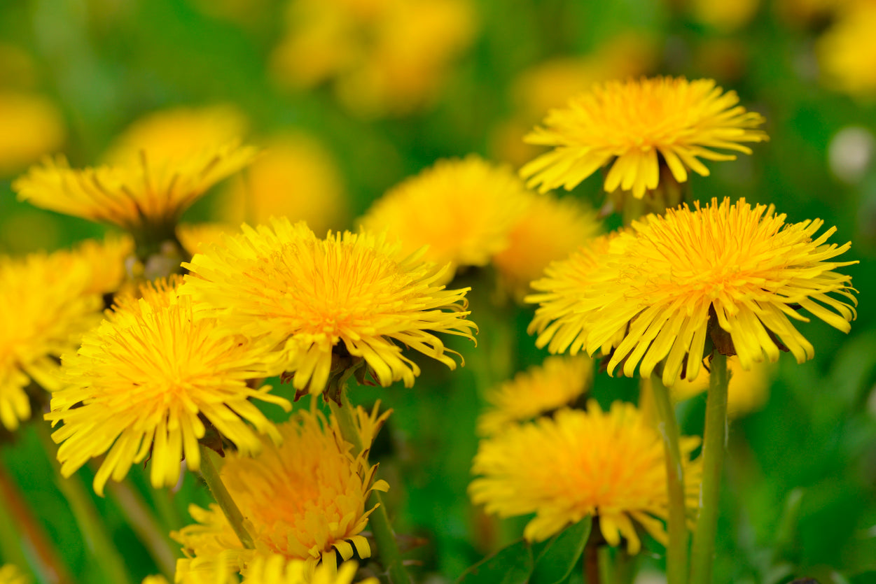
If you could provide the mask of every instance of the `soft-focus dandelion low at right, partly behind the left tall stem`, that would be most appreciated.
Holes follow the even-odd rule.
[[[684,484],[696,509],[702,467],[689,461],[698,438],[682,438]],[[667,543],[661,519],[668,517],[663,442],[632,404],[615,402],[603,412],[596,400],[587,411],[563,409],[553,419],[509,427],[481,440],[472,472],[474,503],[489,513],[514,517],[535,513],[523,536],[541,541],[588,515],[610,545],[627,541],[639,552],[633,521]]]

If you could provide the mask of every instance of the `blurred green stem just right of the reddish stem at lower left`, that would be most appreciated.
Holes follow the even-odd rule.
[[[77,474],[64,478],[60,474],[60,464],[54,455],[57,447],[52,440],[51,427],[42,422],[32,426],[52,463],[55,471],[55,483],[61,494],[67,499],[76,524],[79,525],[82,537],[85,538],[88,549],[91,551],[92,559],[97,566],[100,566],[105,580],[117,584],[131,584],[131,577],[128,575],[128,568],[125,566],[122,554],[113,543],[94,501],[82,484],[81,476]]]

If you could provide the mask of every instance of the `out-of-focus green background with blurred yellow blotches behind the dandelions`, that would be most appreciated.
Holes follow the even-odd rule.
[[[798,365],[783,355],[766,402],[731,426],[716,582],[876,581],[876,3],[2,0],[0,253],[100,236],[95,224],[16,201],[11,180],[50,153],[98,164],[156,112],[206,109],[265,148],[188,222],[282,213],[321,232],[355,229],[386,189],[438,158],[476,152],[518,167],[538,152],[522,137],[548,109],[593,82],[645,74],[716,79],[767,117],[770,141],[694,176],[697,199],[772,203],[789,222],[820,217],[860,261],[847,268],[860,291],[851,334],[802,325],[816,358]],[[600,189],[591,177],[562,194],[599,208]],[[477,348],[457,347],[464,369],[422,363],[411,390],[353,396],[395,409],[376,455],[397,531],[424,544],[412,553],[420,580],[454,580],[520,532],[520,522],[472,508],[465,489],[484,388],[545,353],[525,332],[533,309],[500,302],[485,282],[476,272],[457,280],[475,287],[482,331]],[[606,405],[636,391],[604,374],[593,389]],[[687,433],[702,431],[703,402],[682,405]],[[102,581],[32,428],[0,452],[71,573]],[[132,475],[162,506],[142,469]],[[179,527],[190,501],[206,501],[193,475],[161,517]],[[95,502],[132,578],[154,573],[116,503]],[[640,561],[646,573],[661,563],[648,553]]]

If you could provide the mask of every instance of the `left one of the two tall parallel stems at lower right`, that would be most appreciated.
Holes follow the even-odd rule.
[[[669,399],[669,391],[657,374],[651,376],[654,410],[658,429],[663,438],[666,459],[666,482],[669,496],[669,543],[666,548],[666,575],[668,584],[688,582],[688,526],[684,496],[684,467],[678,446],[678,422]]]

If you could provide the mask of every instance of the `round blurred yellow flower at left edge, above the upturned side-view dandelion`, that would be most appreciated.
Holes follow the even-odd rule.
[[[0,176],[58,151],[66,134],[60,111],[48,99],[0,90]]]

